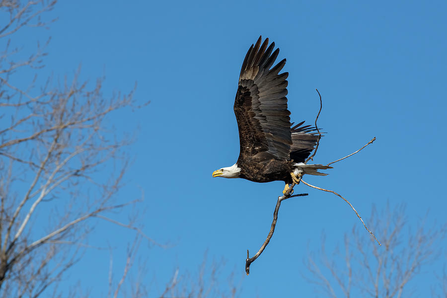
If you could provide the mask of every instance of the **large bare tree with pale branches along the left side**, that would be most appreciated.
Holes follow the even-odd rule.
[[[136,202],[117,196],[131,140],[109,121],[133,106],[133,90],[106,98],[103,78],[81,81],[80,71],[63,82],[43,79],[45,45],[14,44],[16,32],[52,22],[42,19],[55,3],[0,0],[0,297],[38,297],[50,286],[57,296],[55,282],[88,246],[93,219],[145,237],[134,221],[109,217]]]

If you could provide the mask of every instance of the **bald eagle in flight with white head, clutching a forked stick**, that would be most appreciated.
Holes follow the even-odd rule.
[[[292,127],[286,97],[289,73],[279,74],[286,59],[272,68],[279,49],[273,51],[275,43],[268,46],[268,38],[261,42],[260,36],[245,55],[234,100],[239,158],[232,166],[214,171],[213,177],[284,181],[286,193],[297,176],[327,175],[318,169],[332,167],[304,163],[320,135],[314,127],[303,126],[304,121]]]

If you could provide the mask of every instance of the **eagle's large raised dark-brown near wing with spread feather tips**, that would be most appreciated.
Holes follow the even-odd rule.
[[[240,155],[287,160],[293,145],[286,97],[289,73],[279,74],[286,59],[271,69],[279,49],[272,54],[275,43],[267,48],[268,38],[261,41],[259,37],[245,56],[234,101]]]

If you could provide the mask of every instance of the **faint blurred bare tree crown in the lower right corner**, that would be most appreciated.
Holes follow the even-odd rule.
[[[405,218],[404,206],[377,212],[373,208],[371,225],[382,246],[354,226],[344,238],[344,249],[311,253],[306,261],[309,274],[304,277],[324,293],[324,297],[410,297],[409,283],[421,270],[436,260],[446,225],[426,227],[421,221],[412,230]]]

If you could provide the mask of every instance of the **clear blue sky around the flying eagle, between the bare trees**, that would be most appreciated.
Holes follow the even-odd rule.
[[[293,121],[313,122],[315,88],[320,91],[319,127],[327,134],[315,162],[328,163],[377,138],[336,163],[329,176],[307,182],[344,195],[367,224],[373,204],[380,209],[387,202],[405,202],[410,224],[427,210],[429,224],[443,223],[446,12],[445,1],[80,0],[58,3],[50,15],[59,19],[49,30],[21,38],[52,36],[41,75],[72,75],[81,64],[82,78],[105,74],[106,95],[127,92],[137,81],[136,100],[151,101],[109,121],[121,132],[138,127],[123,199],[143,190],[145,232],[172,244],[140,247],[152,294],[176,268],[194,272],[207,251],[210,262],[225,260],[221,286],[233,272],[241,297],[297,291],[313,297],[314,287],[301,277],[302,260],[319,247],[322,230],[332,247],[354,224],[361,227],[349,206],[299,185],[296,192],[309,196],[283,203],[272,241],[245,277],[246,249],[253,254],[264,241],[283,182],[211,178],[239,153],[232,105],[245,53],[261,34],[281,49]],[[131,232],[99,224],[95,235],[94,244],[117,247],[119,274]],[[70,279],[80,279],[92,294],[105,293],[108,266],[107,252],[87,250]],[[425,293],[432,281],[413,282]]]

